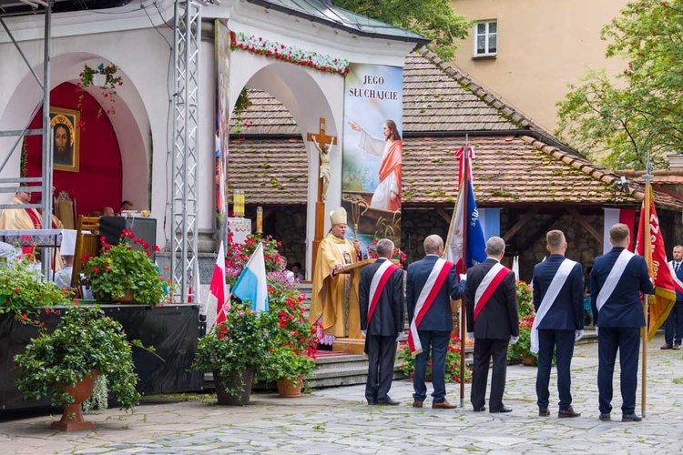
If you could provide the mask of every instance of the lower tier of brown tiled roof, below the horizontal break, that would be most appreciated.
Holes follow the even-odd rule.
[[[474,192],[481,207],[529,204],[637,207],[643,193],[615,191],[617,176],[529,136],[476,137]],[[403,141],[403,207],[450,206],[457,196],[462,137],[407,137]],[[230,144],[229,182],[248,203],[305,204],[308,161],[303,142],[248,139]],[[658,206],[681,209],[656,194]]]

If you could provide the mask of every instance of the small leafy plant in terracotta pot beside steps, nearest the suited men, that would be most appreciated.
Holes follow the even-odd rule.
[[[277,381],[280,397],[301,395],[303,377],[311,374],[315,361],[290,346],[278,346],[270,350],[268,360],[259,370],[260,375]]]

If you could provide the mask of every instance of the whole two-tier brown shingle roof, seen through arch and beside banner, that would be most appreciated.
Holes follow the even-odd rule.
[[[474,191],[481,207],[640,205],[644,194],[636,182],[629,194],[615,193],[616,174],[564,147],[432,53],[406,57],[403,76],[403,207],[454,204],[454,151],[466,132],[476,133],[470,143],[477,154]],[[229,187],[245,189],[250,204],[306,204],[308,160],[299,127],[272,96],[250,91],[250,99],[242,140],[230,141]],[[655,201],[683,209],[664,193],[656,193]]]

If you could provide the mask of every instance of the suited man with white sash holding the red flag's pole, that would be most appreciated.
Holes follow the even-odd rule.
[[[647,263],[627,250],[631,243],[625,224],[609,229],[612,249],[598,256],[590,274],[590,301],[597,331],[597,390],[600,420],[611,420],[612,379],[619,351],[621,367],[621,421],[642,420],[636,414],[636,389],[640,328],[645,315],[640,292],[653,292]]]

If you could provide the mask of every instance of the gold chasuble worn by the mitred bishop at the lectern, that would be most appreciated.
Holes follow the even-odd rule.
[[[348,266],[356,262],[356,250],[347,239],[328,234],[318,248],[313,268],[311,324],[320,320],[322,330],[334,337],[347,337],[349,308],[358,306],[358,288],[352,288],[351,276],[341,273],[331,277],[335,264]]]

